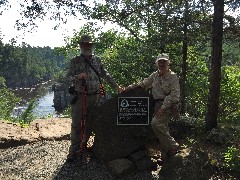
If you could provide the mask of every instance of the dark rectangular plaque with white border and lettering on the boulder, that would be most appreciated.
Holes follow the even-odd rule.
[[[148,97],[118,97],[117,125],[148,125]]]

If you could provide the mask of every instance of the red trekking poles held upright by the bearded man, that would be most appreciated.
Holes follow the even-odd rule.
[[[80,121],[80,156],[84,162],[87,161],[87,88],[86,80],[82,79],[82,118]]]

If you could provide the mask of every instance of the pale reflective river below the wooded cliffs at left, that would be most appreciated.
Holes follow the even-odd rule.
[[[14,90],[14,94],[17,97],[20,97],[22,101],[15,107],[13,116],[19,116],[26,109],[28,102],[34,98],[36,98],[37,101],[37,106],[33,111],[33,114],[36,118],[58,116],[58,113],[53,107],[53,83],[53,81],[48,81],[35,85],[31,88],[19,88]]]

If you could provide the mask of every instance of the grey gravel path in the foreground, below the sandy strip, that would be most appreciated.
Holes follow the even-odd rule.
[[[1,180],[150,180],[159,179],[158,172],[137,172],[116,178],[107,167],[90,156],[81,161],[65,162],[69,140],[40,141],[24,146],[0,149]]]

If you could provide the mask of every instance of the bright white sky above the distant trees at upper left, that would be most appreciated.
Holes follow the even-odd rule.
[[[12,38],[17,40],[17,44],[21,45],[22,42],[34,47],[49,46],[51,48],[60,47],[65,45],[64,37],[73,36],[74,30],[79,30],[86,21],[80,21],[74,17],[68,19],[67,24],[61,24],[61,26],[54,30],[54,26],[57,24],[54,21],[48,20],[37,21],[38,28],[27,32],[30,28],[25,30],[17,30],[15,26],[17,18],[20,17],[20,5],[17,0],[8,0],[11,4],[11,8],[7,11],[3,11],[0,15],[0,34],[2,42],[4,44],[9,43]],[[113,27],[113,25],[110,25]],[[105,27],[110,27],[105,26]]]

